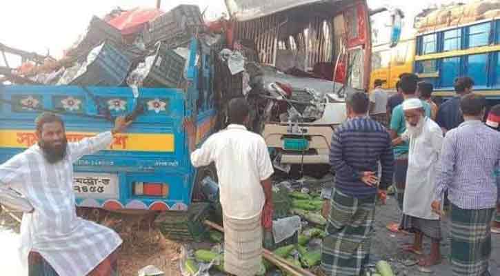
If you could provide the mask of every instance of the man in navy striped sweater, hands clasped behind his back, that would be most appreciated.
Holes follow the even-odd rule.
[[[322,245],[322,275],[363,273],[370,259],[377,193],[385,193],[392,182],[391,139],[386,128],[366,116],[368,102],[366,93],[350,95],[349,119],[332,137],[330,164],[336,175]]]

